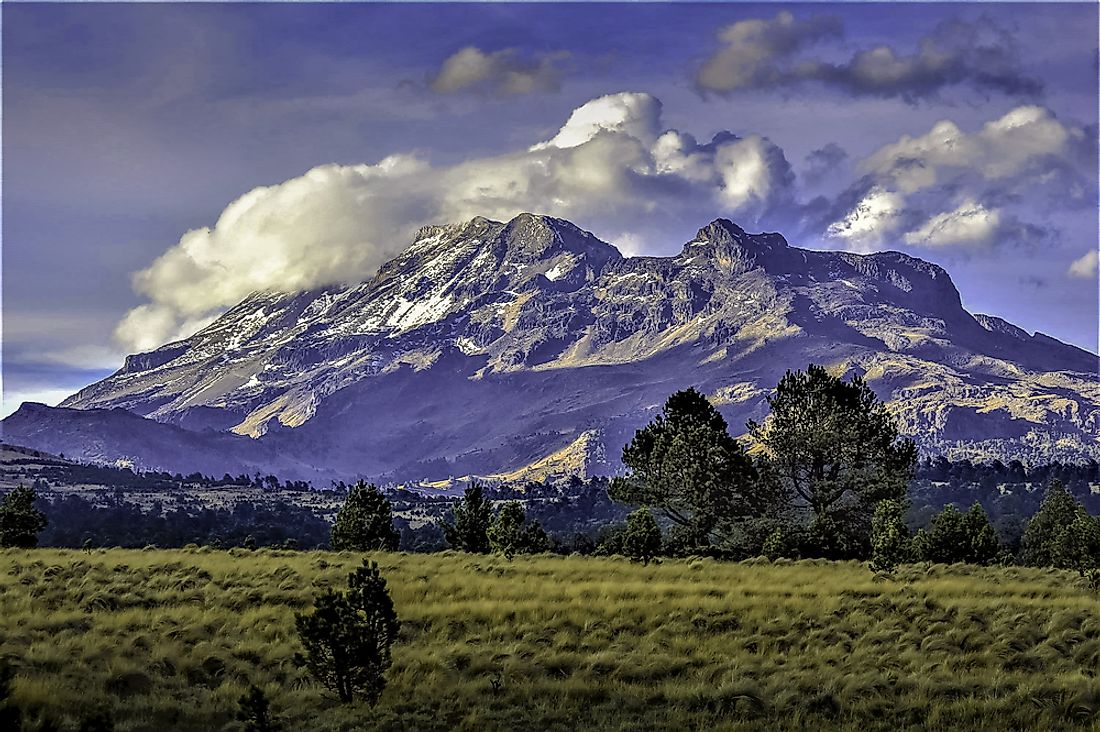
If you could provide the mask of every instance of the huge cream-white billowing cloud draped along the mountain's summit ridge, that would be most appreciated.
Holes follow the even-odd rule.
[[[721,132],[701,143],[662,128],[654,97],[612,95],[574,110],[550,140],[510,154],[451,166],[392,155],[256,188],[134,275],[148,302],[116,336],[148,349],[257,289],[366,278],[429,222],[537,211],[641,252],[675,241],[684,221],[729,216],[750,226],[792,206],[791,167],[767,139]]]

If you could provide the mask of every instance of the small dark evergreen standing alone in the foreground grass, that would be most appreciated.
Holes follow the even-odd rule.
[[[378,566],[364,561],[348,578],[348,590],[327,590],[311,613],[295,615],[305,654],[296,656],[340,701],[362,697],[372,706],[386,686],[391,647],[400,622]]]

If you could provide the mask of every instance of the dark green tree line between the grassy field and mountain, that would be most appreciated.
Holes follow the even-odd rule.
[[[996,555],[999,561],[1032,562],[1037,555],[1025,547],[1026,516],[1040,511],[1044,491],[1030,484],[1026,490],[1004,491],[994,481],[1065,477],[1081,499],[1063,488],[1059,494],[1090,516],[1087,502],[1094,500],[1089,491],[1094,465],[1025,468],[1015,462],[919,461],[913,443],[900,435],[886,405],[858,376],[844,381],[817,365],[790,371],[767,403],[768,416],[750,422],[748,438],[737,439],[703,394],[694,389],[676,392],[623,448],[625,476],[609,483],[574,480],[576,484],[564,489],[529,484],[525,491],[516,491],[473,484],[457,502],[428,501],[437,506],[433,510],[450,506],[442,521],[428,515],[395,518],[386,494],[360,482],[338,487],[346,498],[331,531],[319,517],[302,515],[310,513],[306,509],[265,511],[240,505],[226,515],[209,510],[193,515],[182,510],[139,515],[135,506],[116,504],[99,516],[103,520],[100,526],[112,523],[131,533],[148,526],[146,535],[161,538],[114,543],[123,546],[187,542],[243,545],[251,537],[260,546],[293,540],[302,547],[328,544],[352,550],[450,547],[509,557],[548,550],[632,555],[628,547],[645,547],[638,549],[645,560],[660,555],[867,560],[875,551],[877,516],[889,509],[891,521],[902,521],[912,547],[917,547],[905,556],[992,561]],[[978,490],[968,493],[939,485],[938,479],[974,480]],[[576,491],[575,495],[566,498],[568,490]],[[935,507],[943,503],[935,503],[937,491],[950,499],[938,513]],[[958,511],[954,504],[965,507],[967,496],[970,502],[980,500],[965,512]],[[410,505],[408,498],[397,500],[405,503],[403,507]],[[111,545],[109,537],[80,524],[78,514],[84,506],[76,501],[79,499],[51,505],[53,513],[66,516],[62,523],[67,533],[56,535],[57,529],[47,529],[50,543]],[[1009,501],[1016,512],[1005,518],[1001,512]],[[578,505],[570,505],[573,502]],[[1001,523],[991,521],[987,505]],[[597,518],[590,516],[596,523],[580,532],[575,531],[579,506],[598,514]],[[1019,511],[1021,506],[1030,506],[1026,514]],[[118,515],[111,515],[111,510]],[[629,511],[642,513],[627,518]],[[914,514],[921,517],[916,525]],[[886,521],[879,518],[880,524]],[[1074,525],[1087,534],[1091,531],[1089,521],[1082,518]],[[248,531],[250,522],[256,531]],[[604,525],[596,528],[598,523]],[[286,527],[295,524],[308,529],[307,540],[286,535]],[[924,528],[914,534],[920,526]],[[958,534],[960,526],[978,527],[974,531],[985,537],[981,545],[996,545],[996,551],[982,548],[968,553],[959,548],[965,543],[937,538]]]

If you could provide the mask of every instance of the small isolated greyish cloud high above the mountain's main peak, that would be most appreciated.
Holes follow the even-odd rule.
[[[557,91],[564,75],[562,64],[568,58],[566,52],[527,57],[515,48],[485,52],[476,46],[466,46],[443,62],[428,86],[440,94]]]

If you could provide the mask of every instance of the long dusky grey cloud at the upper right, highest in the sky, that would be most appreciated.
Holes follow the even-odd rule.
[[[803,53],[843,37],[838,20],[820,15],[799,20],[783,11],[771,20],[739,21],[718,31],[721,47],[698,68],[695,85],[730,94],[818,83],[853,95],[909,101],[958,84],[982,92],[1042,91],[1021,68],[1012,36],[992,22],[944,22],[909,53],[877,45],[839,63]]]

